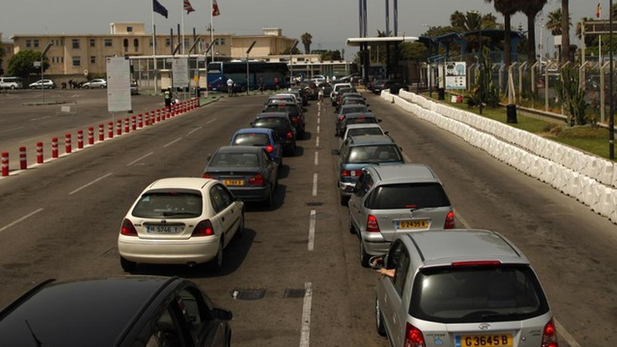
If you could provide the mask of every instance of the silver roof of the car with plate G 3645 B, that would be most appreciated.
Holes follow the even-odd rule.
[[[500,261],[527,264],[528,259],[496,232],[476,229],[427,230],[405,234],[423,262],[422,267],[452,265],[463,261]]]

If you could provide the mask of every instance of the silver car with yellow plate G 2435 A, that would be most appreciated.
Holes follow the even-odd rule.
[[[444,187],[423,164],[366,167],[348,204],[349,230],[360,239],[365,267],[400,234],[455,227]]]

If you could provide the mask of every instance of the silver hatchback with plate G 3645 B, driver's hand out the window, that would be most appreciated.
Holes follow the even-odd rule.
[[[380,260],[380,259],[376,259]],[[528,259],[486,230],[397,237],[375,316],[394,347],[557,347],[549,303]]]

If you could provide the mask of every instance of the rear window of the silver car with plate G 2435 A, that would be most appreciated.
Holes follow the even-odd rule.
[[[370,209],[424,209],[450,206],[444,187],[436,182],[381,185],[366,201]]]

